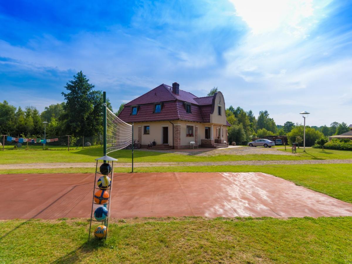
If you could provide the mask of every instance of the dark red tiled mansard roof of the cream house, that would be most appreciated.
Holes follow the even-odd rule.
[[[119,118],[125,122],[149,122],[186,120],[194,122],[210,122],[214,96],[197,97],[180,90],[180,94],[172,93],[172,87],[161,84],[149,92],[125,104]],[[162,110],[154,113],[154,103],[161,102]],[[185,102],[191,104],[191,113],[186,112]],[[136,115],[131,115],[131,106],[138,105]]]

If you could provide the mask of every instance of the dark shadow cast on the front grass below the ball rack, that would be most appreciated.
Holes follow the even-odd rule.
[[[76,263],[81,262],[84,258],[88,257],[88,253],[93,252],[100,247],[105,247],[106,241],[104,239],[90,239],[83,243],[77,249],[67,253],[65,256],[62,256],[51,263]]]

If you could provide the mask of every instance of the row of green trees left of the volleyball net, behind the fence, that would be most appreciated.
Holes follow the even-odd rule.
[[[103,93],[94,90],[82,71],[74,75],[73,80],[66,83],[67,92],[62,92],[65,102],[49,105],[42,113],[33,106],[24,110],[10,105],[7,101],[0,102],[0,133],[13,137],[42,137],[44,124],[46,136],[56,137],[72,135],[74,137],[91,137],[102,134]],[[107,99],[107,107],[112,111]]]

